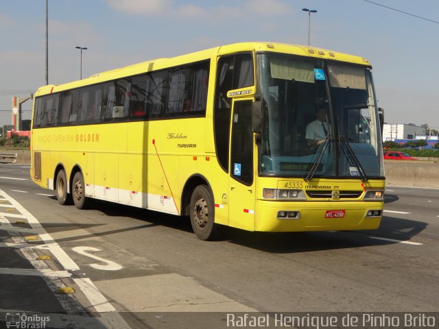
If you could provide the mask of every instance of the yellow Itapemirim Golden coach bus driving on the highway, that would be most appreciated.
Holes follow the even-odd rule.
[[[382,217],[381,144],[366,59],[242,42],[39,88],[31,175],[60,204],[189,215],[202,240],[366,230]]]

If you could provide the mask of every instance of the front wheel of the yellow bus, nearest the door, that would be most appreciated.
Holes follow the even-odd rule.
[[[191,226],[200,240],[214,240],[219,237],[222,226],[215,223],[215,208],[212,193],[206,185],[193,190],[190,206]]]

